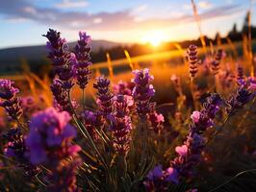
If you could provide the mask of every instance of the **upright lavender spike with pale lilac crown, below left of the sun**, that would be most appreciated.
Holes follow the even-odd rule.
[[[141,118],[145,118],[150,112],[150,100],[155,94],[155,89],[152,84],[154,77],[149,74],[149,69],[133,71],[135,78],[132,83],[135,84],[132,95],[136,102],[137,112]]]

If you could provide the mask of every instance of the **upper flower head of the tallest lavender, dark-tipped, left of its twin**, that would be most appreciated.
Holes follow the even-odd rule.
[[[47,47],[49,49],[48,58],[52,60],[54,72],[63,82],[64,89],[70,89],[73,86],[72,77],[74,76],[73,65],[76,62],[75,55],[68,50],[68,45],[61,33],[49,29],[46,35],[48,38]]]

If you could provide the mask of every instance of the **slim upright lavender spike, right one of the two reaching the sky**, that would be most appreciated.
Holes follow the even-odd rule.
[[[89,82],[89,75],[91,73],[89,66],[90,62],[90,36],[87,36],[85,32],[79,32],[80,39],[75,46],[76,64],[75,73],[77,84],[81,89],[85,89]]]

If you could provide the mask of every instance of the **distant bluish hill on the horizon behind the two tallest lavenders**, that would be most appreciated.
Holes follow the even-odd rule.
[[[69,47],[73,49],[76,42],[69,43]],[[111,49],[116,46],[125,45],[125,43],[117,43],[108,40],[92,40],[90,46],[92,52],[97,52],[101,48],[104,50]],[[19,71],[21,62],[26,61],[30,66],[46,63],[47,49],[45,45],[25,46],[0,49],[0,73],[12,73]]]

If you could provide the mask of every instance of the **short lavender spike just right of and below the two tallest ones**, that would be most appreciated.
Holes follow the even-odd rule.
[[[114,111],[114,95],[110,90],[110,81],[105,77],[98,77],[96,84],[93,87],[97,89],[97,104],[101,114],[105,117],[111,115]]]

